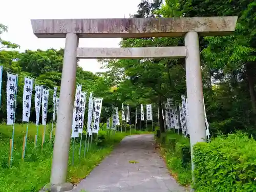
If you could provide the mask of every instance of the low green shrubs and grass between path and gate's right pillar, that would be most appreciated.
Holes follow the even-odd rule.
[[[191,182],[190,144],[187,138],[172,131],[161,134],[162,152],[170,173],[181,185]]]

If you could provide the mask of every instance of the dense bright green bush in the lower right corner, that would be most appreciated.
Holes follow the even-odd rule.
[[[196,144],[194,164],[197,192],[256,191],[256,141],[245,134]]]

